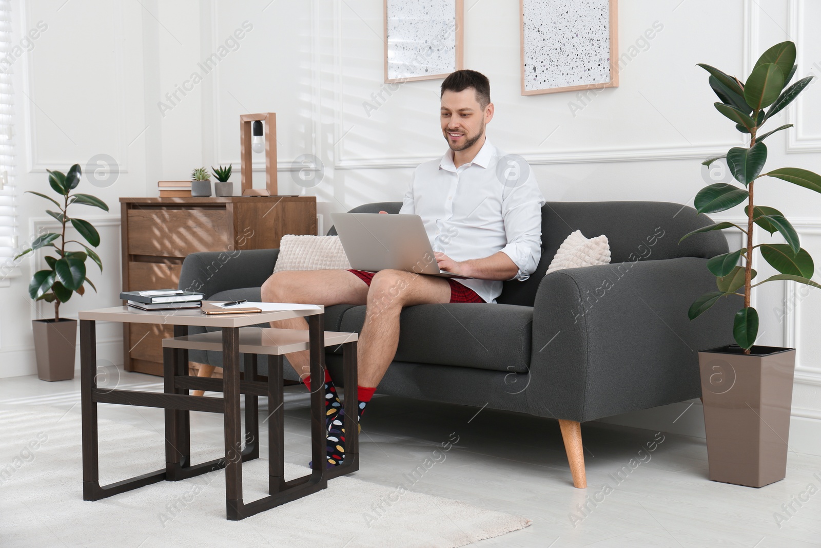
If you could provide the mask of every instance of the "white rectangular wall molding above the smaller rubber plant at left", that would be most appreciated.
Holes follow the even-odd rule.
[[[29,29],[29,23],[32,18],[30,17],[29,7],[30,2],[22,2],[22,9],[20,10],[20,16],[18,21],[20,21],[20,31],[21,33],[27,32]],[[117,145],[115,148],[117,149],[117,154],[119,158],[116,159],[117,161],[117,168],[119,169],[119,173],[128,173],[128,146],[126,145],[126,137],[123,135],[123,131],[126,130],[126,102],[125,102],[125,88],[126,88],[126,74],[124,69],[124,40],[119,39],[118,37],[122,37],[123,35],[123,21],[122,21],[122,7],[120,6],[119,2],[112,3],[112,16],[113,16],[113,25],[115,27],[115,39],[113,40],[113,51],[114,51],[114,64],[115,64],[115,78],[114,78],[114,86],[115,86],[115,94],[116,94],[116,101],[117,101],[117,112],[119,114],[117,118]],[[25,139],[25,156],[26,156],[26,170],[27,173],[46,173],[48,169],[51,170],[64,170],[67,166],[71,166],[74,162],[73,160],[43,160],[38,159],[37,156],[37,108],[32,108],[33,100],[29,99],[32,97],[31,93],[31,85],[34,81],[34,61],[31,55],[24,55],[21,58],[22,64],[22,88],[25,95],[21,97],[21,101],[23,103],[23,117],[25,120],[25,126],[27,127],[28,131],[26,139]],[[85,168],[85,165],[82,166]]]

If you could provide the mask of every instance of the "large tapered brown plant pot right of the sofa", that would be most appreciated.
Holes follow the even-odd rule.
[[[787,475],[795,348],[699,352],[710,480],[763,487]]]

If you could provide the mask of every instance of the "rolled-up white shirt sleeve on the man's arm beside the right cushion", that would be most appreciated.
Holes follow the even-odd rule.
[[[539,191],[533,172],[524,184],[507,190],[502,200],[502,218],[507,245],[500,251],[519,267],[511,279],[530,278],[542,256],[542,206],[544,196]],[[404,209],[404,207],[403,207]]]

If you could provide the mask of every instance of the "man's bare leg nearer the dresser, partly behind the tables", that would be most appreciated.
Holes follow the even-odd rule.
[[[347,270],[306,270],[277,272],[265,280],[262,286],[264,302],[298,302],[300,304],[333,306],[338,304],[364,305],[368,285]],[[308,329],[305,318],[272,321],[271,327],[279,329]],[[310,375],[309,352],[287,354],[288,361],[304,379]]]

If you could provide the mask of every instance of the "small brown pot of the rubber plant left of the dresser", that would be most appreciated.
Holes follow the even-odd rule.
[[[32,320],[31,329],[40,380],[73,379],[77,320]]]

